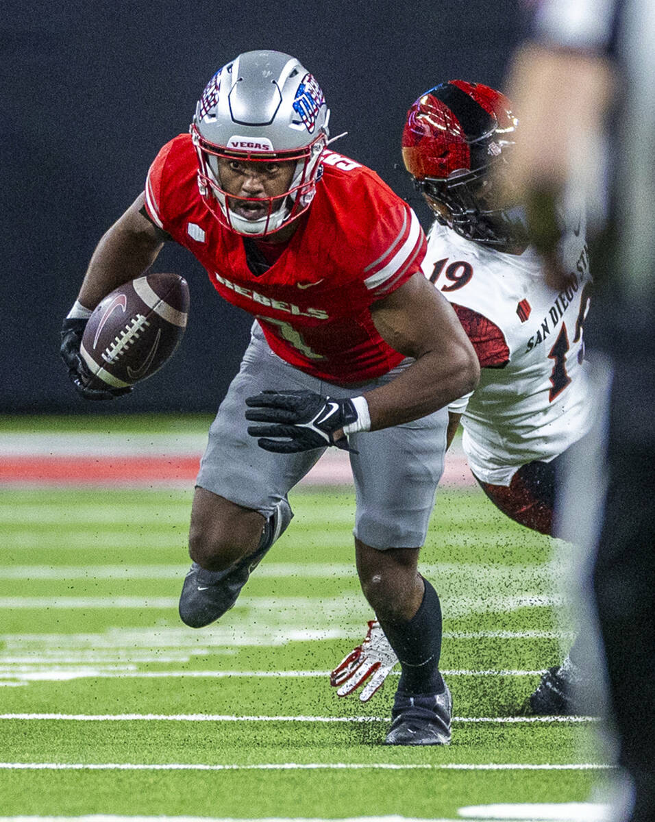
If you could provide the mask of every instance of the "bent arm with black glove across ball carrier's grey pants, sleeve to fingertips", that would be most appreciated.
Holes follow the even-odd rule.
[[[311,391],[265,391],[246,399],[248,427],[265,450],[293,453],[337,446],[348,436],[426,417],[477,386],[477,355],[450,303],[421,273],[374,303],[376,330],[416,360],[400,376],[354,399]]]

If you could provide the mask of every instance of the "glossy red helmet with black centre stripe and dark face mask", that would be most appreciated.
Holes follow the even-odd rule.
[[[403,131],[404,164],[414,184],[432,205],[445,206],[436,218],[463,237],[500,250],[527,244],[522,210],[501,201],[496,184],[517,125],[500,91],[451,80],[416,100]]]

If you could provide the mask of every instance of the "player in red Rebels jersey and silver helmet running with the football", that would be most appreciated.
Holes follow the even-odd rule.
[[[443,470],[446,406],[477,384],[473,346],[422,275],[416,215],[370,169],[328,150],[329,111],[295,58],[247,52],[205,88],[191,133],[164,145],[140,196],[99,242],[62,330],[85,390],[85,319],[180,243],[255,316],[210,428],[191,510],[180,616],[235,603],[291,520],[288,491],[328,446],[350,452],[362,589],[402,661],[386,742],[450,741],[441,607],[417,556]],[[399,493],[399,489],[405,489]]]

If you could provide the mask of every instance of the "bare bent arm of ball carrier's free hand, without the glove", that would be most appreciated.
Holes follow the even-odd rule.
[[[477,386],[473,345],[450,303],[421,273],[371,307],[381,337],[416,362],[365,394],[371,430],[408,423],[443,408]]]

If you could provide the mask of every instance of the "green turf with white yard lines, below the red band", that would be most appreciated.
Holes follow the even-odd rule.
[[[397,676],[367,704],[326,676],[371,618],[352,494],[291,501],[237,606],[194,631],[177,616],[191,491],[2,491],[0,816],[460,819],[588,799],[604,773],[588,723],[517,719],[568,641],[550,541],[481,492],[440,492],[422,570],[453,743],[390,748]]]

